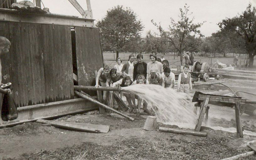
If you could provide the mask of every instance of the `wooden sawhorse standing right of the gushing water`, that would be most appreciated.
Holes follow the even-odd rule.
[[[198,100],[203,101],[203,103],[201,103],[200,115],[197,119],[195,131],[198,131],[198,132],[200,131],[200,128],[202,126],[205,114],[206,114],[206,117],[205,117],[206,123],[208,121],[209,106],[207,106],[207,105],[208,105],[209,102],[228,103],[228,104],[234,104],[235,105],[236,132],[239,133],[241,138],[244,137],[242,121],[241,121],[240,104],[245,104],[246,99],[236,98],[236,97],[226,97],[226,96],[221,96],[221,95],[212,96],[212,95],[199,94]]]

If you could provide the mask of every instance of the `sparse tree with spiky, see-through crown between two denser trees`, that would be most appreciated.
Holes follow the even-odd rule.
[[[193,23],[194,18],[192,18],[191,20],[189,18],[191,14],[192,12],[189,12],[189,6],[185,4],[183,9],[180,8],[180,20],[178,22],[175,22],[175,20],[171,18],[169,31],[165,31],[160,23],[157,24],[154,22],[154,20],[151,20],[151,22],[157,27],[160,33],[165,33],[167,35],[168,39],[170,40],[170,43],[179,52],[180,61],[182,61],[182,53],[188,47],[189,38],[192,35],[203,36],[199,28],[203,25],[204,22],[196,24]],[[180,62],[180,64],[181,63],[182,62]]]

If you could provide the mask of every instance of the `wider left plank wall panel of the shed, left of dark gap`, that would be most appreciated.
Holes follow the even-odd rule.
[[[1,22],[11,41],[3,57],[3,83],[12,82],[20,106],[74,98],[71,30],[68,26]]]

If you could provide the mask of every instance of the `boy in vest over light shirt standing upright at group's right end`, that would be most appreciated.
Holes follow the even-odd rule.
[[[189,93],[189,91],[192,91],[192,82],[191,82],[191,75],[188,73],[189,66],[186,64],[183,69],[184,71],[180,73],[178,78],[178,92],[185,92]]]

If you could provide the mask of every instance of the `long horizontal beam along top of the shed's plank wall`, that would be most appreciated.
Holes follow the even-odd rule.
[[[17,12],[17,10],[15,9],[5,9],[5,8],[0,8],[0,22],[1,21],[94,28],[93,19],[78,18],[75,16],[67,16],[67,15],[60,15],[60,14],[53,14],[53,13],[42,14],[42,13]]]

